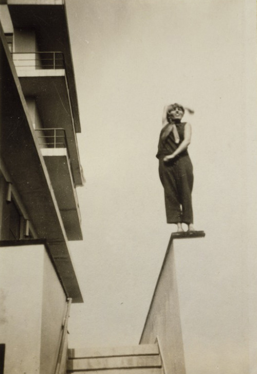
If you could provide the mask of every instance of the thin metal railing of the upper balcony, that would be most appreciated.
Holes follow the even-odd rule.
[[[16,67],[65,69],[63,52],[13,52],[12,59]]]

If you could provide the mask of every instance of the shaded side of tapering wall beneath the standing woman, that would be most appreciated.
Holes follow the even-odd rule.
[[[166,373],[185,374],[173,247],[167,252],[140,344],[155,343],[156,339]]]

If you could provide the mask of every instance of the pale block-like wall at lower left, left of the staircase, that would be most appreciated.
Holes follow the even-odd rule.
[[[51,374],[66,296],[44,245],[0,248],[0,343],[5,374]]]

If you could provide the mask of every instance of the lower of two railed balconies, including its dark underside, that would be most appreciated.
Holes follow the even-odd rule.
[[[35,129],[68,240],[82,239],[78,198],[64,129]]]

